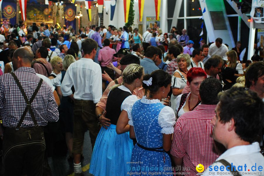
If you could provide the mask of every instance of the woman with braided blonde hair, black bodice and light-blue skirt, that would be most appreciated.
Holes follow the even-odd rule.
[[[143,75],[142,66],[130,64],[123,70],[123,83],[116,84],[109,92],[104,115],[111,120],[111,124],[108,128],[101,127],[97,135],[89,169],[91,174],[96,176],[127,175],[133,141],[129,138],[128,123],[122,133],[116,130],[116,126],[121,114],[126,113],[131,102],[137,100],[132,92],[136,87],[141,86]]]

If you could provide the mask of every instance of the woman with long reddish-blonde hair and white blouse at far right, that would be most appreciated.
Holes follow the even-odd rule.
[[[237,54],[235,50],[230,50],[226,53],[227,67],[231,67],[235,70],[234,76],[240,77],[244,75],[242,64],[237,61]]]

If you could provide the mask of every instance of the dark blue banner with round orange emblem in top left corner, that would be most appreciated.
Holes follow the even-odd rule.
[[[16,24],[16,1],[2,2],[2,18],[8,18],[11,24]]]

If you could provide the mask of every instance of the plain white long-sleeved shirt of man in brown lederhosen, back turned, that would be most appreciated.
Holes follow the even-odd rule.
[[[92,59],[81,58],[73,62],[68,68],[61,84],[63,96],[72,94],[77,100],[92,100],[97,103],[102,97],[102,71],[99,64]]]

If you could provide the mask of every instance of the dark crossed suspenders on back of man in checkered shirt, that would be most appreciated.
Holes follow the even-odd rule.
[[[32,110],[32,108],[31,108],[31,103],[33,102],[34,98],[36,97],[36,95],[37,95],[37,93],[38,93],[38,91],[39,91],[39,89],[40,89],[40,86],[41,86],[41,84],[42,84],[42,82],[43,82],[43,79],[40,78],[40,81],[39,81],[39,83],[38,83],[37,88],[35,89],[34,93],[32,94],[30,100],[28,100],[28,97],[27,97],[27,95],[26,95],[26,93],[25,93],[25,91],[24,91],[22,85],[20,84],[18,78],[16,77],[15,73],[11,72],[10,74],[11,74],[11,75],[13,76],[13,78],[15,79],[16,84],[18,85],[18,88],[19,88],[19,90],[21,91],[21,93],[22,93],[22,95],[23,95],[23,97],[24,97],[24,99],[25,99],[25,101],[26,101],[26,104],[27,104],[27,106],[26,106],[26,108],[25,108],[25,110],[24,110],[24,112],[23,112],[23,114],[22,114],[22,116],[21,116],[21,118],[20,118],[20,120],[19,120],[17,126],[16,126],[16,130],[18,130],[19,127],[21,126],[21,124],[22,124],[23,120],[25,119],[25,116],[26,116],[26,114],[27,114],[28,111],[29,111],[29,113],[30,113],[30,116],[31,116],[31,118],[32,118],[32,121],[33,121],[33,123],[34,123],[34,126],[35,126],[36,128],[38,128],[38,123],[37,123],[37,121],[36,121],[36,118],[35,118],[35,116],[34,116],[33,110]]]

